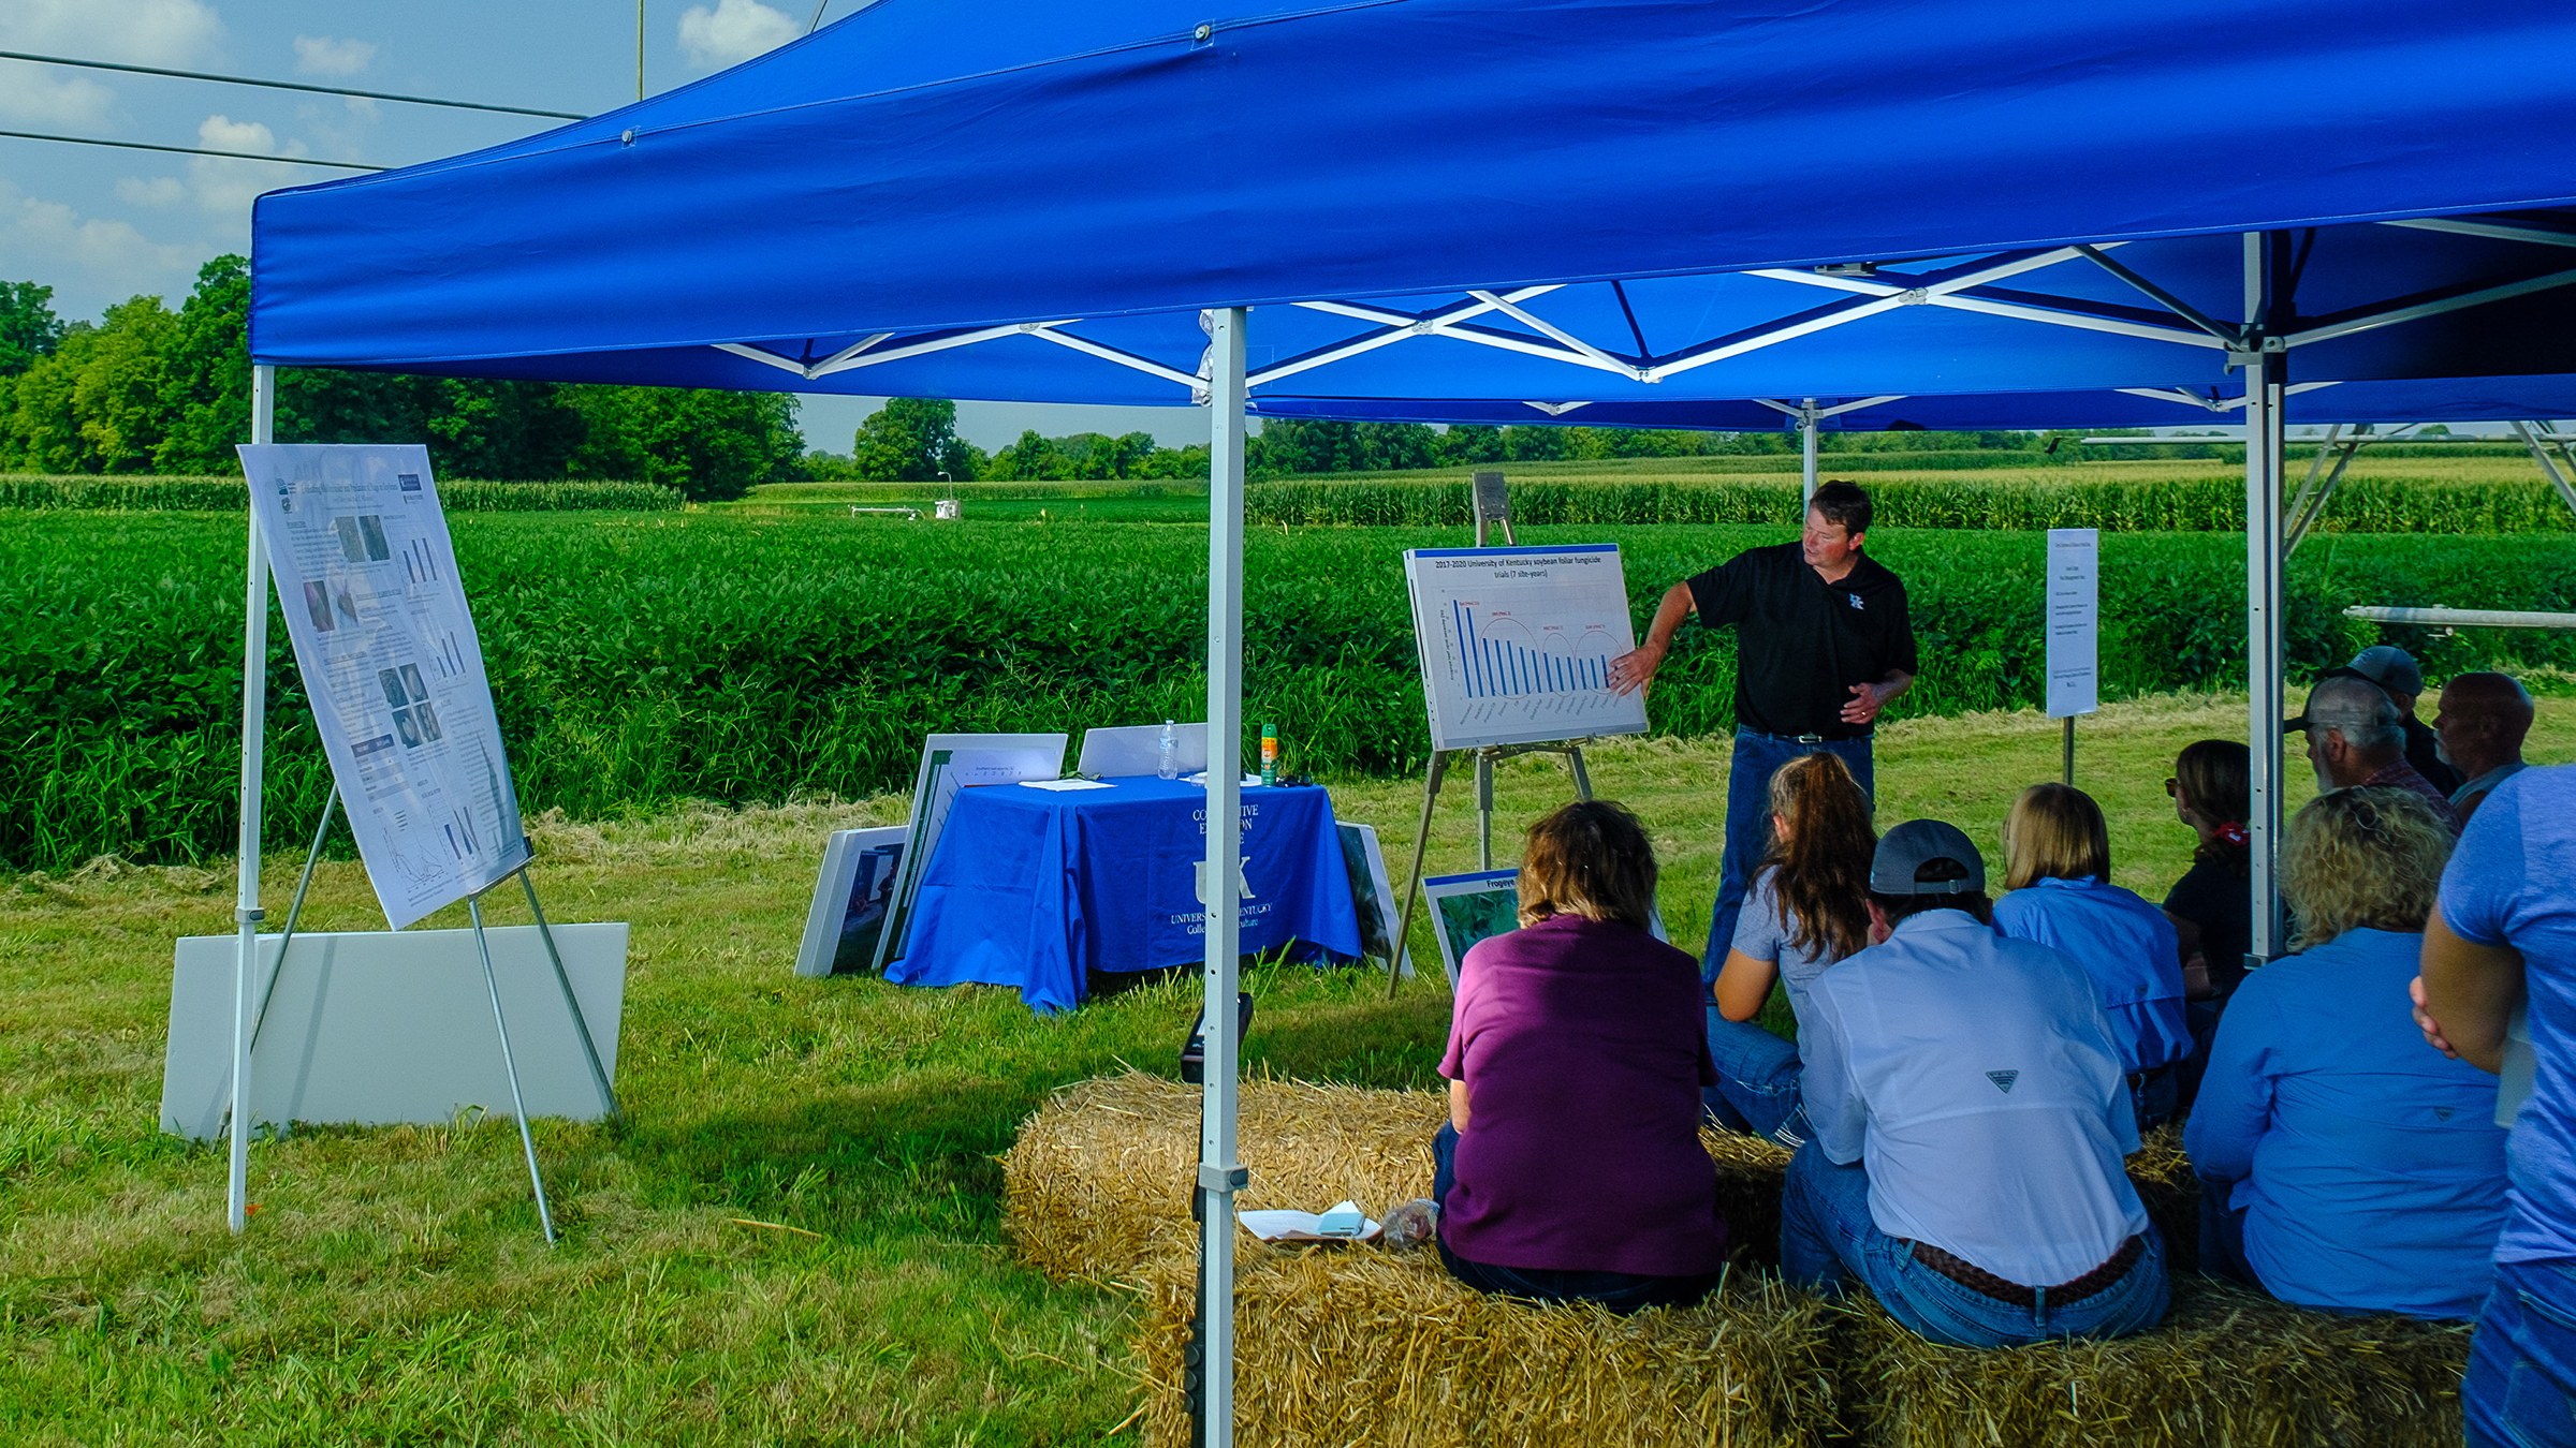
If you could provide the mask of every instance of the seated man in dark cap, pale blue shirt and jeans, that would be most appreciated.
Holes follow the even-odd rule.
[[[1953,1348],[2143,1332],[2169,1301],[2164,1242],[2120,1165],[2138,1116],[2099,989],[1989,912],[1955,827],[1878,840],[1878,943],[1808,987],[1816,1136],[1790,1157],[1780,1273],[1857,1278]]]

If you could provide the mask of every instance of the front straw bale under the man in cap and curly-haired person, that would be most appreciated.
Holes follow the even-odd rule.
[[[2182,1273],[2164,1327],[2107,1342],[1960,1350],[1868,1293],[1837,1335],[1844,1422],[1868,1448],[2452,1448],[2465,1324],[2306,1311]]]

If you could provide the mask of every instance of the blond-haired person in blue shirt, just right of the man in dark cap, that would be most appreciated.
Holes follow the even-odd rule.
[[[2058,951],[2102,989],[2138,1131],[2174,1116],[2174,1067],[2192,1054],[2174,922],[2110,884],[2110,827],[2089,794],[2035,783],[2004,817],[2004,899],[1994,928]]]

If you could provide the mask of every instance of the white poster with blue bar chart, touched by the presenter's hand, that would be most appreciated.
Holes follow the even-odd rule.
[[[1610,693],[1636,647],[1618,544],[1406,549],[1435,750],[1643,734],[1646,698]]]

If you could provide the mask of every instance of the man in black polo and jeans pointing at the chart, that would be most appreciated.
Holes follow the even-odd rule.
[[[1692,613],[1736,626],[1736,752],[1726,773],[1726,858],[1708,922],[1700,979],[1716,979],[1736,938],[1744,889],[1770,845],[1770,776],[1798,755],[1829,752],[1860,788],[1878,794],[1870,729],[1914,683],[1914,624],[1906,585],[1860,544],[1870,495],[1826,482],[1806,505],[1795,544],[1747,549],[1672,585],[1646,642],[1610,660],[1610,688],[1646,688]]]

